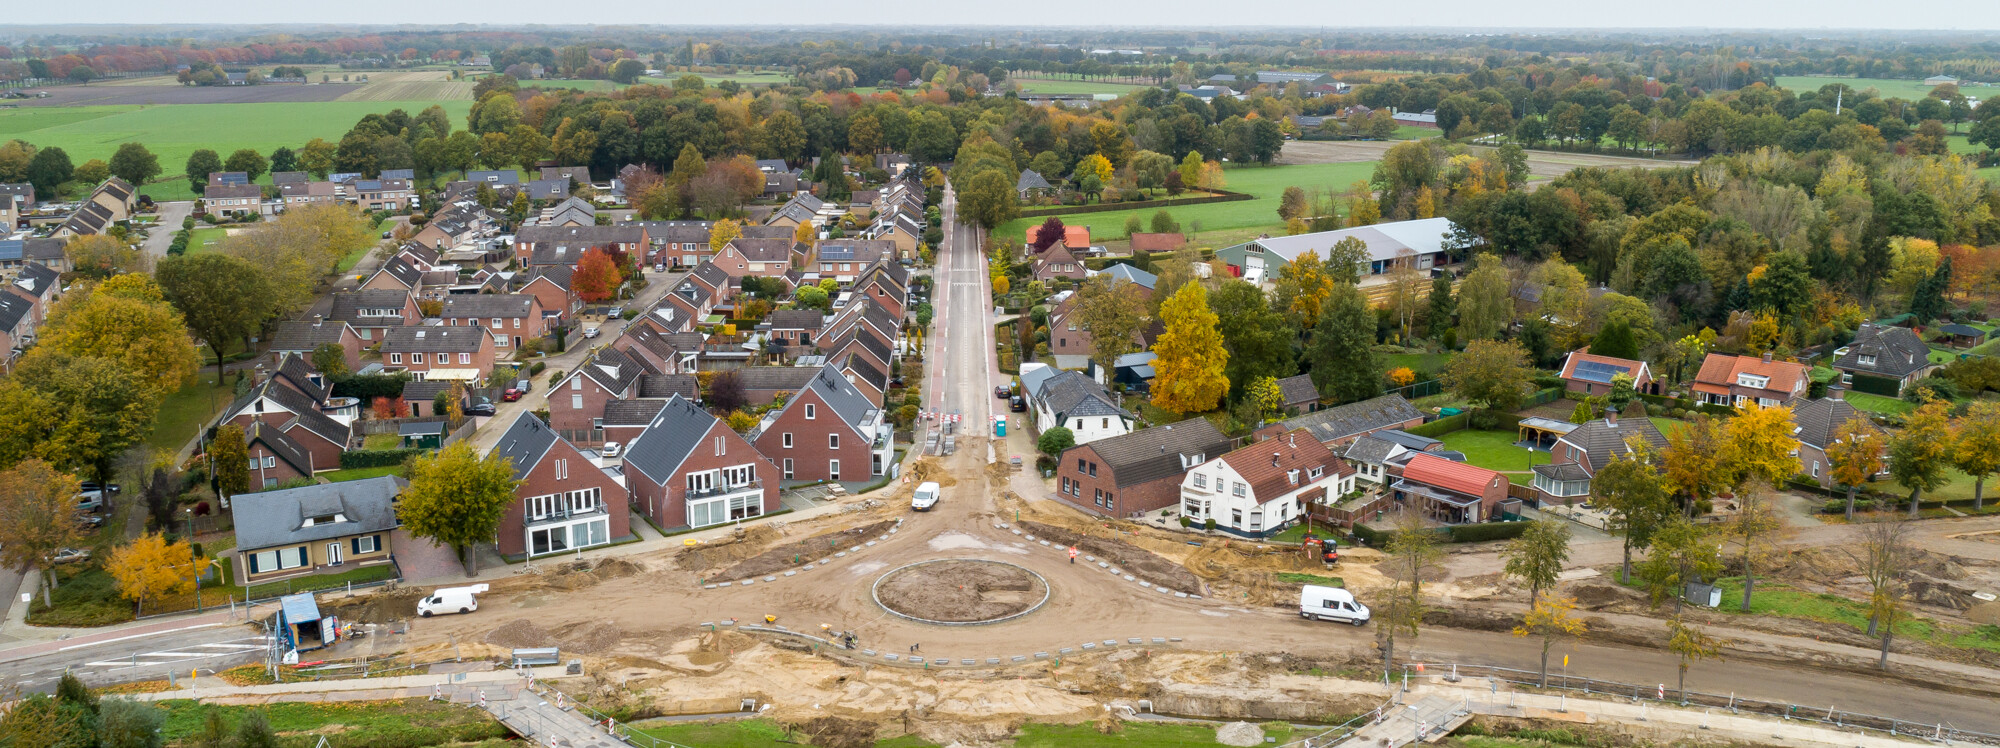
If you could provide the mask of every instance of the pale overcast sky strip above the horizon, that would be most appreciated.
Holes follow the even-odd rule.
[[[12,0],[0,24],[996,24],[1452,28],[2000,30],[1996,0],[756,0],[756,2],[160,2]],[[1996,34],[2000,40],[2000,34]]]

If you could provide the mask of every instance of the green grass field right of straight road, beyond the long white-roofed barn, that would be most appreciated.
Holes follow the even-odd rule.
[[[1374,174],[1374,162],[1232,166],[1226,172],[1228,184],[1224,190],[1248,192],[1254,194],[1256,200],[1176,206],[1166,208],[1166,212],[1180,222],[1182,230],[1194,230],[1194,222],[1200,222],[1200,232],[1194,242],[1196,246],[1220,248],[1234,244],[1234,240],[1256,238],[1258,230],[1278,228],[1282,232],[1282,222],[1278,220],[1278,196],[1284,194],[1286,186],[1298,184],[1308,190],[1346,190],[1348,184],[1354,184],[1354,180],[1366,180],[1370,174]],[[1128,216],[1136,214],[1140,220],[1152,220],[1152,214],[1158,210],[1160,208],[1110,210],[1066,214],[1060,218],[1066,226],[1090,226],[1090,238],[1094,242],[1102,242],[1122,238],[1124,220]],[[994,232],[1000,236],[1026,236],[1028,226],[1040,226],[1044,220],[1048,218],[1016,218],[1002,224]]]

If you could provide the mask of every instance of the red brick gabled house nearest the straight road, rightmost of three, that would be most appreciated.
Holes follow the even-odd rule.
[[[882,408],[824,366],[750,432],[784,480],[868,480],[888,470],[894,438]]]

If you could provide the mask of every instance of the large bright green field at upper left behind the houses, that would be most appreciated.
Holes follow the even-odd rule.
[[[416,114],[430,104],[444,106],[454,122],[472,112],[468,100],[38,106],[0,110],[0,140],[60,146],[76,164],[110,160],[118,144],[142,142],[160,158],[160,178],[166,178],[142,192],[156,200],[188,200],[194,192],[178,174],[198,148],[222,156],[256,148],[268,156],[278,146],[298,148],[312,138],[340,140],[364,114],[394,108]]]

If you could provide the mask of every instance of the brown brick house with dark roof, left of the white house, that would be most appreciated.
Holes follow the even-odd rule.
[[[1108,436],[1062,452],[1056,498],[1084,512],[1138,516],[1180,504],[1180,478],[1230,450],[1206,418]]]

